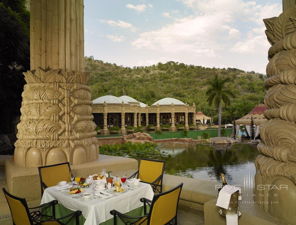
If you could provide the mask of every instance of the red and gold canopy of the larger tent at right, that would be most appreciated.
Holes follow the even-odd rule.
[[[263,115],[263,112],[267,109],[267,106],[263,103],[259,103],[256,105],[252,111],[250,111],[244,117],[237,119],[235,121],[235,125],[251,125],[251,119],[253,117],[254,125],[260,125],[262,122],[266,120]]]

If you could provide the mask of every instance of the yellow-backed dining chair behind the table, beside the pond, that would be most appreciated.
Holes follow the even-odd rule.
[[[140,159],[139,169],[128,179],[141,179],[141,182],[149,183],[152,186],[153,192],[162,192],[163,188],[163,170],[165,161],[155,159]],[[158,189],[159,188],[159,189]]]

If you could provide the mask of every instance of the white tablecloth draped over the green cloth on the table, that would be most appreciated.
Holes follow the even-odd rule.
[[[152,200],[154,193],[151,186],[146,183],[141,184],[141,187],[134,188],[135,190],[133,191],[128,190],[128,192],[116,194],[117,196],[108,199],[96,197],[96,199],[90,201],[82,201],[81,198],[73,199],[73,195],[61,194],[61,191],[57,191],[54,187],[49,187],[44,190],[41,204],[58,200],[60,204],[70,210],[81,210],[83,217],[86,218],[84,225],[98,225],[113,218],[110,214],[110,211],[113,209],[118,210],[120,213],[127,213],[143,206],[140,198],[144,197]],[[91,192],[91,188],[86,188],[85,192]]]

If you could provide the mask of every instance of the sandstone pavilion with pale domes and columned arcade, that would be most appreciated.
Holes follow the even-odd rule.
[[[195,104],[189,106],[176,98],[163,98],[149,107],[126,93],[120,97],[108,94],[93,100],[92,108],[94,122],[103,134],[109,134],[109,128],[113,126],[120,127],[120,133],[126,133],[127,126],[146,129],[154,124],[160,130],[162,124],[168,124],[170,130],[176,130],[178,124],[186,129],[189,124],[196,124]]]

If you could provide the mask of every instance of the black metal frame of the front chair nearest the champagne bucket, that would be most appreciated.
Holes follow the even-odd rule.
[[[176,215],[168,222],[166,222],[165,224],[159,224],[159,225],[166,225],[166,224],[169,224],[169,225],[177,225],[177,216],[178,216],[178,205],[179,205],[179,199],[180,199],[180,194],[181,194],[181,191],[182,191],[182,186],[183,186],[183,183],[180,183],[178,186],[174,187],[173,189],[167,191],[167,192],[163,192],[163,193],[160,193],[160,194],[155,194],[153,196],[153,199],[152,201],[147,199],[147,198],[141,198],[140,201],[144,203],[144,216],[127,216],[123,213],[120,213],[118,212],[117,210],[111,210],[110,211],[110,214],[113,215],[113,224],[116,225],[116,215],[120,218],[121,221],[123,221],[123,223],[125,225],[140,225],[142,223],[144,223],[146,220],[147,220],[147,224],[149,225],[150,224],[150,213],[152,212],[152,209],[153,209],[153,206],[154,206],[154,203],[157,201],[157,199],[165,194],[168,194],[170,192],[173,192],[175,191],[176,189],[178,189],[179,187],[181,187],[180,189],[180,193],[179,193],[179,196],[178,196],[178,201],[177,201],[177,207],[176,207]],[[149,209],[149,213],[147,213],[147,210],[146,210],[146,203],[147,205],[150,206],[150,209]],[[144,219],[141,223],[139,224],[136,224],[138,221],[140,221],[141,219],[147,217],[146,219]],[[126,219],[137,219],[136,221],[125,221],[123,218],[126,218]]]

